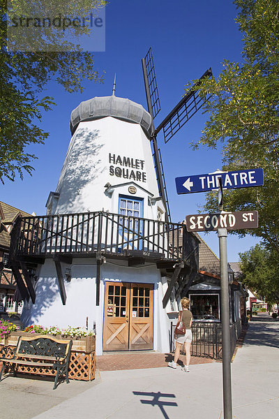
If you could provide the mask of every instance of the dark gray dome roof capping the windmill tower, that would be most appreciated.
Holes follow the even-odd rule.
[[[151,115],[142,105],[130,99],[104,96],[80,103],[70,115],[70,131],[75,132],[81,121],[91,121],[103,117],[114,117],[140,124],[147,135],[151,135]]]

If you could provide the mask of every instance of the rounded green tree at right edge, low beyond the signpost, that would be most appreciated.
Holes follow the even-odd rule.
[[[241,281],[270,304],[279,302],[278,256],[256,244],[250,250],[239,253]]]

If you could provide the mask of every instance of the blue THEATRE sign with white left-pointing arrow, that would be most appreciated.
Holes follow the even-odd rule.
[[[177,193],[218,191],[218,179],[222,179],[223,189],[262,186],[264,184],[264,170],[257,168],[235,170],[234,172],[216,171],[204,175],[176,177],[176,191]]]

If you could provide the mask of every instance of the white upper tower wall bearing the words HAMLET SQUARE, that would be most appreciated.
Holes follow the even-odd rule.
[[[126,163],[123,163],[123,157]],[[130,167],[126,166],[127,159]],[[123,170],[125,174],[128,170],[128,178],[123,177]],[[115,191],[107,193],[105,185],[126,184],[122,191],[117,191],[117,196],[118,193],[129,195],[129,182],[138,186],[134,197],[146,199],[144,216],[156,219],[157,211],[152,211],[147,201],[148,196],[158,198],[156,172],[150,140],[140,124],[113,117],[80,122],[70,140],[56,187],[60,196],[55,212],[67,214],[105,210],[117,213],[118,198]],[[162,204],[160,207],[165,211]]]

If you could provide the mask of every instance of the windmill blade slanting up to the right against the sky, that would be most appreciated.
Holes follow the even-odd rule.
[[[206,70],[199,80],[202,80],[205,77],[211,77],[212,71],[211,68]],[[195,86],[199,85],[199,81]],[[188,120],[195,115],[195,113],[202,108],[204,102],[208,98],[201,98],[198,94],[198,91],[191,89],[186,96],[184,96],[179,103],[174,107],[172,112],[169,112],[169,115],[165,117],[163,122],[156,128],[155,134],[163,128],[165,142],[168,142],[179,129],[188,122]]]

